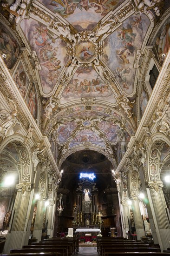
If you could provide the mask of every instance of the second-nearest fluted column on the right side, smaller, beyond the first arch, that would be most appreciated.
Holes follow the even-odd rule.
[[[132,201],[132,210],[133,210],[137,240],[141,240],[141,237],[145,236],[145,232],[144,232],[144,225],[143,225],[143,220],[141,217],[141,212],[139,207],[139,201],[138,199],[136,200],[132,199],[131,201]]]

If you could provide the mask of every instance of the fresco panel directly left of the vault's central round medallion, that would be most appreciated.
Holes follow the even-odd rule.
[[[36,51],[39,58],[42,68],[39,71],[39,77],[43,93],[49,94],[68,61],[66,43],[48,30],[45,25],[33,19],[22,20],[20,26],[30,47]]]

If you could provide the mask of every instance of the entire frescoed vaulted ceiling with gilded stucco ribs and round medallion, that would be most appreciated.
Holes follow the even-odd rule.
[[[155,8],[144,0],[27,0],[27,8],[20,1],[19,15],[4,2],[1,14],[17,35],[3,22],[0,53],[7,54],[6,65],[59,166],[72,153],[92,149],[116,167],[148,102],[145,88],[139,94],[138,67],[168,2],[155,0]],[[17,62],[25,48],[29,74],[26,59]]]

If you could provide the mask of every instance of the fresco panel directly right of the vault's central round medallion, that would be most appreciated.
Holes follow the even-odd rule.
[[[150,20],[145,14],[132,15],[104,40],[103,61],[126,94],[134,90],[136,69],[133,64],[149,26]]]

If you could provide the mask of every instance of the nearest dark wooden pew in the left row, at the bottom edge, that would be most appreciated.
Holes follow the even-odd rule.
[[[10,254],[20,254],[20,253],[48,253],[48,252],[52,252],[52,253],[61,253],[62,256],[68,256],[68,251],[66,248],[23,248],[23,249],[10,249]],[[41,254],[42,255],[42,254]]]

